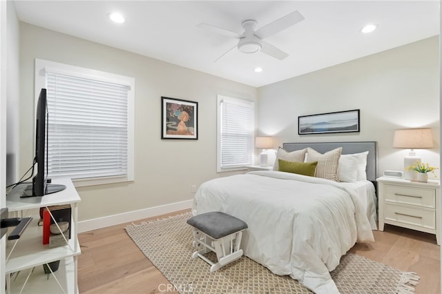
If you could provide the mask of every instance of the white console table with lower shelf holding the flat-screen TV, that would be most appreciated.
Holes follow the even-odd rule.
[[[19,239],[8,241],[6,248],[8,293],[78,293],[77,255],[81,253],[81,249],[77,238],[77,204],[81,199],[70,179],[52,179],[52,183],[63,184],[66,189],[43,197],[21,198],[20,195],[28,185],[21,184],[6,196],[6,206],[10,213],[16,212],[17,217],[33,217]],[[39,208],[63,204],[70,204],[72,210],[71,238],[68,240],[68,245],[49,248],[47,244],[43,244],[42,226],[37,226],[40,218]],[[61,260],[58,271],[54,273],[58,282],[52,275],[46,275],[43,269],[43,264],[57,260]],[[11,274],[17,272],[19,272],[16,274],[17,277],[11,279]]]

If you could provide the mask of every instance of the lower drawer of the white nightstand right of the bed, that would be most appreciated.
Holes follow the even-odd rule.
[[[436,210],[385,203],[385,219],[424,228],[436,228]]]

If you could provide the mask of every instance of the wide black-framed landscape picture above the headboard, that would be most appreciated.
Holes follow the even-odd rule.
[[[298,135],[361,131],[360,110],[345,110],[298,117]]]

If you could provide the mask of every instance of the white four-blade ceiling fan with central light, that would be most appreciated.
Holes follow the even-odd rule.
[[[256,53],[260,51],[271,57],[282,60],[289,55],[270,43],[263,41],[263,39],[270,37],[271,35],[275,35],[277,32],[285,30],[286,28],[289,28],[289,26],[293,26],[303,19],[304,17],[302,17],[302,15],[296,10],[287,14],[285,17],[281,17],[280,19],[276,19],[276,21],[268,23],[258,30],[256,30],[256,25],[258,22],[253,19],[247,19],[242,21],[242,28],[244,28],[244,32],[242,32],[242,34],[231,32],[230,30],[226,30],[224,28],[218,28],[207,23],[200,23],[197,26],[198,28],[208,29],[220,35],[239,39],[238,45],[229,49],[223,55],[218,57],[218,59],[237,47],[238,50],[244,53]],[[218,59],[215,61],[218,61]]]

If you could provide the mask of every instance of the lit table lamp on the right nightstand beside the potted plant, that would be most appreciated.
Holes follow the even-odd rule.
[[[404,169],[413,166],[421,158],[416,156],[414,149],[433,148],[433,136],[431,128],[405,128],[394,131],[393,148],[410,149],[408,156],[404,158]],[[404,170],[405,179],[416,179],[414,170]]]

